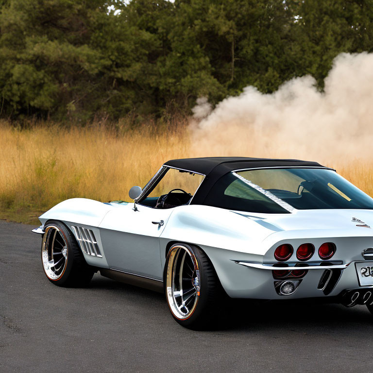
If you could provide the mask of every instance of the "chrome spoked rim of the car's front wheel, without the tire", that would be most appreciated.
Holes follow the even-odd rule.
[[[58,280],[63,275],[68,262],[68,245],[60,229],[54,225],[45,229],[41,260],[50,280]]]

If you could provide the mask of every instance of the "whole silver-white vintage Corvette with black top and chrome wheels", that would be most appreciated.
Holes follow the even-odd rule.
[[[164,291],[181,325],[213,320],[221,297],[313,298],[373,313],[373,199],[333,169],[291,159],[166,162],[134,203],[70,199],[39,219],[58,286],[94,272]]]

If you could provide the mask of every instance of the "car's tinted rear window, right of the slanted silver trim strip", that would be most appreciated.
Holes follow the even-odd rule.
[[[237,175],[298,210],[373,209],[373,199],[334,170],[268,169]]]

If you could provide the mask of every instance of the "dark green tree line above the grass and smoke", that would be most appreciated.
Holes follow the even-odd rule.
[[[0,117],[188,113],[372,51],[372,0],[0,0]]]

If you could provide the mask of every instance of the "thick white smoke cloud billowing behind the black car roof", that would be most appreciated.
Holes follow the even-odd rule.
[[[340,54],[324,83],[324,92],[311,76],[272,94],[248,86],[213,111],[200,100],[190,125],[193,155],[299,158],[331,166],[371,158],[373,54]]]

